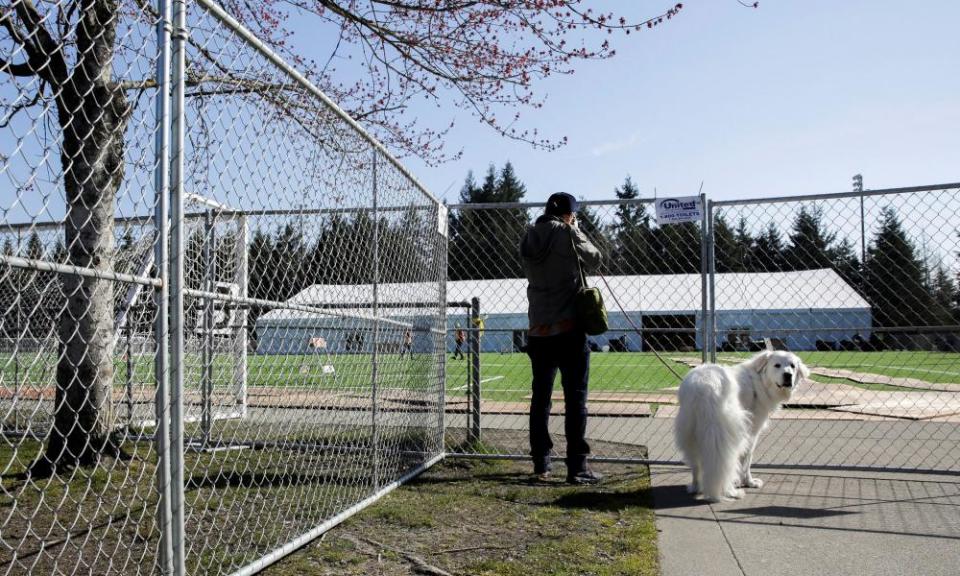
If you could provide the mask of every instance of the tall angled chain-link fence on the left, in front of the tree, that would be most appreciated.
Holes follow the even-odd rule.
[[[171,4],[0,9],[3,574],[252,573],[443,455],[442,206]]]

